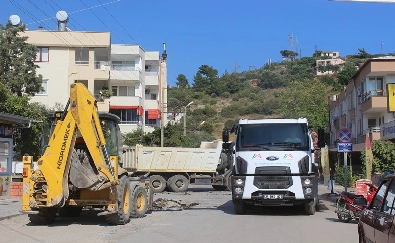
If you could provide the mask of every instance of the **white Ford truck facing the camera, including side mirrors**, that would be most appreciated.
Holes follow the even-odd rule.
[[[241,119],[236,134],[232,199],[234,211],[250,206],[300,205],[315,213],[317,176],[312,171],[314,145],[307,119]],[[318,147],[325,146],[324,129],[318,129]],[[223,132],[229,149],[229,130]]]

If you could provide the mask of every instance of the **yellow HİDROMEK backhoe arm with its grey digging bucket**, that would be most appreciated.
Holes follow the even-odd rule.
[[[101,129],[97,101],[81,83],[70,85],[70,99],[31,176],[29,200],[41,206],[63,206],[69,183],[77,188],[101,190],[119,184]],[[68,111],[67,111],[68,109]],[[78,140],[83,140],[82,146]]]

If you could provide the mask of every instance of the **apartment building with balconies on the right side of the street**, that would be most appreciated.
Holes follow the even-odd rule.
[[[334,160],[341,160],[337,153],[337,143],[340,142],[339,132],[343,128],[348,128],[353,133],[350,142],[353,143],[354,153],[365,149],[367,134],[370,140],[393,138],[389,134],[381,136],[380,133],[395,121],[394,113],[387,111],[386,85],[392,83],[395,83],[395,57],[372,58],[358,69],[338,95],[330,97],[327,106],[330,118],[329,150],[334,153]],[[358,165],[361,165],[359,154],[353,161],[357,161],[354,169],[358,170]]]

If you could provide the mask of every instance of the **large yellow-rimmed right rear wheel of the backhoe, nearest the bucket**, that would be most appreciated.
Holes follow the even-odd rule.
[[[116,186],[116,199],[118,212],[106,215],[106,221],[109,224],[126,224],[130,216],[130,183],[127,176],[122,176],[120,184]]]

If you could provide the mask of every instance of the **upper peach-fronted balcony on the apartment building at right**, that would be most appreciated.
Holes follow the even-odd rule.
[[[361,113],[387,111],[387,91],[371,90],[361,94]]]

